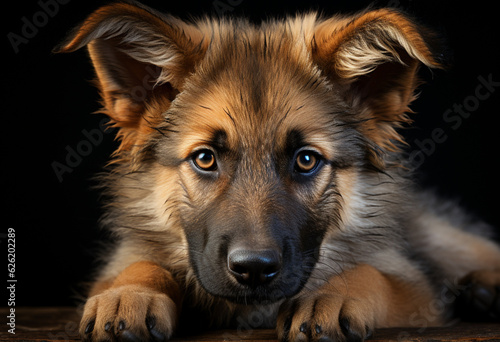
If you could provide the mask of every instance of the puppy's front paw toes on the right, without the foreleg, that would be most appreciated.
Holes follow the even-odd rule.
[[[367,303],[331,292],[312,292],[285,302],[277,332],[283,342],[363,341],[375,327]]]

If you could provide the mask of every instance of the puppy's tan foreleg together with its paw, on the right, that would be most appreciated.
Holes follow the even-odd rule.
[[[432,298],[430,287],[415,286],[383,275],[372,266],[359,265],[284,305],[278,316],[278,336],[289,341],[306,336],[316,340],[325,332],[340,338],[351,334],[350,329],[366,336],[374,326],[408,326],[408,317]],[[339,318],[332,320],[332,316]],[[289,331],[284,331],[282,327],[286,327],[285,321],[289,319],[292,322]]]

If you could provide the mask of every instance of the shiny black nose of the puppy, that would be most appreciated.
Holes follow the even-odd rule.
[[[281,256],[275,250],[236,249],[229,252],[227,262],[236,280],[251,287],[269,283],[281,269]]]

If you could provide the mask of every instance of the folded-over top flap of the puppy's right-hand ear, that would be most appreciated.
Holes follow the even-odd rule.
[[[369,74],[384,63],[405,64],[402,52],[428,67],[439,67],[424,34],[430,32],[424,33],[403,14],[380,9],[323,22],[315,32],[314,52],[345,79]]]

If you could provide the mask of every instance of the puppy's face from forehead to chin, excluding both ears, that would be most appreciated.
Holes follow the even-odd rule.
[[[180,219],[200,284],[238,302],[302,288],[336,226],[337,172],[363,156],[348,143],[359,133],[327,79],[292,49],[268,47],[264,57],[259,48],[232,40],[207,56],[156,145],[158,161],[178,168]],[[212,59],[225,56],[217,69]]]

